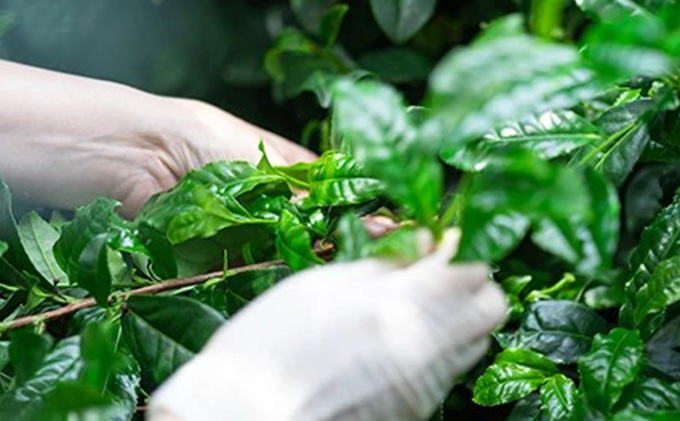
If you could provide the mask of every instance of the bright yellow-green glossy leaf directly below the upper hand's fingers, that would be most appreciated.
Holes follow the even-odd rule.
[[[246,162],[217,162],[185,175],[170,191],[154,196],[137,217],[166,233],[173,244],[215,236],[220,230],[273,221],[251,215],[244,205],[264,194],[290,196],[283,177]]]

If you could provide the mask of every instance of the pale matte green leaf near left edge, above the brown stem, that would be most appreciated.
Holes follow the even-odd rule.
[[[28,258],[42,277],[55,285],[68,282],[66,273],[59,267],[54,257],[54,244],[59,232],[37,213],[26,214],[19,221],[17,233]]]

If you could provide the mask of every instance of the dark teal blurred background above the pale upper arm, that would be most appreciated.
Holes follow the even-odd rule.
[[[303,4],[297,16],[289,4],[296,2]],[[390,69],[393,74],[381,76],[417,101],[431,66],[451,46],[474,36],[478,22],[516,10],[520,2],[440,1],[400,54],[377,57],[392,43],[369,2],[345,3],[350,9],[338,42],[344,59],[376,73]],[[284,29],[304,27],[300,15],[313,12],[296,0],[0,0],[0,57],[206,100],[299,140],[305,125],[325,112],[311,94],[272,95],[263,61]]]

